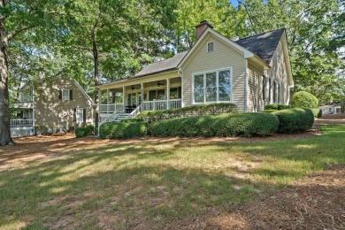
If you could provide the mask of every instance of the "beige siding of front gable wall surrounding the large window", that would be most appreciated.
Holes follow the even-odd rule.
[[[214,51],[207,52],[207,42],[214,42]],[[192,104],[192,75],[227,67],[233,69],[233,103],[244,111],[244,88],[246,62],[244,55],[234,50],[225,42],[209,35],[199,43],[199,47],[190,56],[183,68],[183,106]]]

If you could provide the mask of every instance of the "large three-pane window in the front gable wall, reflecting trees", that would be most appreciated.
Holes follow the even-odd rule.
[[[193,103],[231,102],[231,69],[195,74],[193,89]]]

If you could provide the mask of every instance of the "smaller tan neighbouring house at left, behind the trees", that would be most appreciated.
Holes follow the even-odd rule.
[[[27,83],[12,103],[12,137],[65,131],[93,123],[93,100],[76,80],[58,77]]]

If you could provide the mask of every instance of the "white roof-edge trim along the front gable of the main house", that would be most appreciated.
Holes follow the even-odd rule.
[[[265,61],[261,58],[259,58],[257,56],[257,54],[251,52],[250,50],[242,47],[242,45],[237,44],[236,42],[234,42],[233,40],[227,38],[225,35],[221,35],[218,31],[212,29],[211,27],[208,27],[207,29],[205,29],[205,31],[203,31],[203,35],[201,35],[199,37],[199,39],[196,41],[196,43],[193,45],[192,49],[190,49],[188,51],[188,53],[186,54],[185,57],[182,58],[182,60],[180,61],[179,65],[177,65],[179,68],[181,65],[183,65],[185,63],[185,61],[188,59],[188,57],[190,56],[190,54],[196,50],[196,47],[198,46],[198,44],[203,40],[203,38],[206,36],[206,34],[210,32],[212,35],[217,36],[220,40],[226,42],[228,45],[231,45],[235,50],[239,50],[242,51],[244,54],[244,58],[258,58],[261,62],[263,62],[265,64],[265,66],[271,68],[271,66],[269,66],[267,63],[265,63]]]

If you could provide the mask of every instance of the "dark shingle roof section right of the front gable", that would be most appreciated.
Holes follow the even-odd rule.
[[[285,28],[272,30],[260,35],[245,37],[235,42],[255,53],[259,58],[263,59],[265,63],[269,64],[284,31]]]

